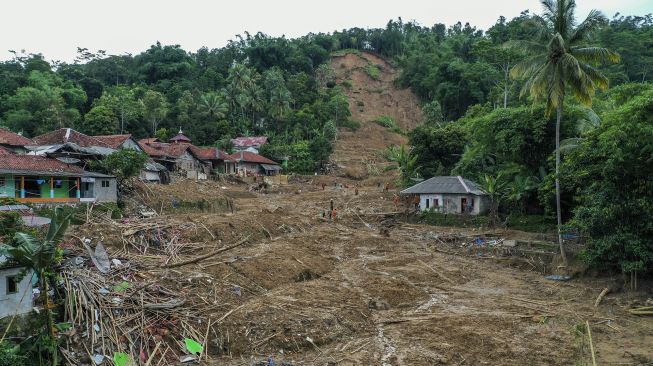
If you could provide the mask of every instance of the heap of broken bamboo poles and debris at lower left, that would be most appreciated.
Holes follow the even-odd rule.
[[[157,218],[117,225],[126,246],[137,249],[136,253],[118,250],[121,255],[117,256],[112,252],[109,257],[119,260],[105,274],[76,261],[67,261],[62,268],[64,317],[72,324],[63,352],[66,362],[92,364],[94,354],[114,352],[127,353],[142,364],[178,362],[185,354],[180,340],[191,338],[207,344],[208,334],[215,334],[218,323],[207,323],[207,316],[223,306],[202,297],[206,288],[197,280],[205,277],[201,268],[179,269],[241,246],[251,235],[189,258],[206,247],[206,243],[183,242],[180,231],[188,229],[189,224],[180,227]],[[70,251],[69,255],[88,258],[82,246]],[[88,259],[84,262],[91,263]],[[73,352],[80,349],[82,353]]]

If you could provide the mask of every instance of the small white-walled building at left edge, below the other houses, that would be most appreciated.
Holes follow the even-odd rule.
[[[16,262],[0,255],[0,319],[32,311],[32,273],[19,279],[21,270]]]

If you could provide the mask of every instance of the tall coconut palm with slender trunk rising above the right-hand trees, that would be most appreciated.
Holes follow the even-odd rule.
[[[516,64],[511,76],[526,80],[521,96],[530,95],[533,102],[546,101],[546,114],[556,112],[556,209],[558,242],[563,262],[567,258],[562,242],[560,211],[560,122],[565,95],[571,93],[579,102],[591,105],[597,89],[606,89],[608,79],[596,68],[599,64],[619,62],[619,55],[601,47],[588,46],[590,35],[607,19],[592,10],[581,23],[576,23],[575,0],[541,0],[544,12],[533,17],[536,34],[532,40],[512,41],[508,47],[519,47],[529,56]]]

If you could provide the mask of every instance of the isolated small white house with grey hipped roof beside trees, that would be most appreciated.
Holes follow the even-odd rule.
[[[471,215],[488,209],[487,195],[479,186],[461,176],[438,176],[400,192],[419,210]]]

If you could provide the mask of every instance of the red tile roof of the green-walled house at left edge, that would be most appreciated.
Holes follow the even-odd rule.
[[[68,165],[57,159],[35,155],[0,155],[0,172],[25,174],[81,174],[82,168]]]

